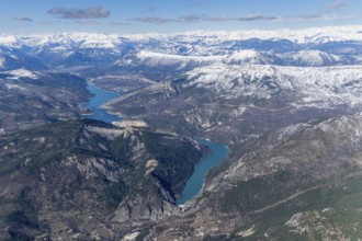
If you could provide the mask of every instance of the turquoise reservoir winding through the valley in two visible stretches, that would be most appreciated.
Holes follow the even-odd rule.
[[[87,115],[87,118],[103,120],[105,123],[122,120],[120,116],[110,114],[104,108],[101,108],[102,104],[111,101],[112,99],[115,99],[118,96],[118,93],[101,90],[91,83],[88,84],[88,90],[94,94],[94,96],[88,103],[88,107],[92,110],[92,114]],[[227,157],[228,149],[225,145],[212,142],[201,138],[194,139],[199,144],[207,146],[211,150],[211,153],[195,164],[194,172],[188,180],[186,185],[182,191],[181,197],[177,200],[177,205],[182,205],[194,197],[202,188],[205,174],[212,168],[223,162]]]

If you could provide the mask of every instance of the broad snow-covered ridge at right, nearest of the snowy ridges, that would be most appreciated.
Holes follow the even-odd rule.
[[[326,107],[362,104],[362,66],[287,67],[271,65],[212,65],[186,73],[189,87],[212,89],[227,99],[270,99],[293,93],[295,106]]]

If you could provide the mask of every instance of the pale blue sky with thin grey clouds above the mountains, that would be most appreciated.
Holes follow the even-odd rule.
[[[362,25],[361,0],[0,0],[0,33],[176,33]]]

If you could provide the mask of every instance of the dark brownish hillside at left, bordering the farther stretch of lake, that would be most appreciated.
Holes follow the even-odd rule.
[[[71,74],[30,71],[0,73],[0,127],[4,133],[57,119],[79,118],[91,96],[86,81]]]

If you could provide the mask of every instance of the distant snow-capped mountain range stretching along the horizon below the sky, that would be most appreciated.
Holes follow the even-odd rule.
[[[362,26],[128,36],[89,33],[0,35],[0,69],[15,69],[22,62],[37,68],[143,64],[179,69],[210,62],[308,67],[359,65],[361,41]]]

